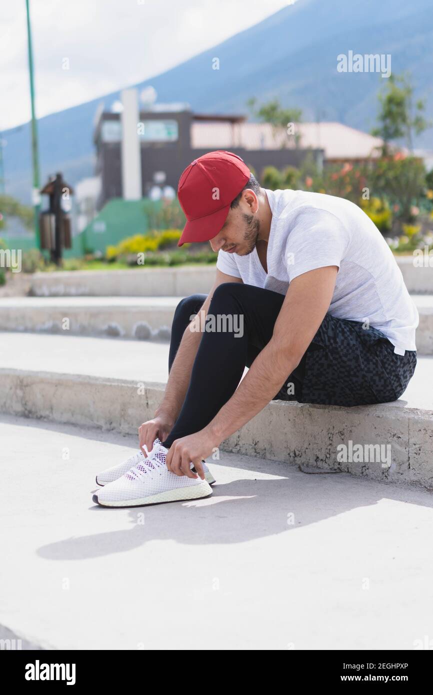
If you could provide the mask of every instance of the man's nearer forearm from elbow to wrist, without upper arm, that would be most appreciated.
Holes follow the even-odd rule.
[[[205,429],[218,441],[237,432],[274,398],[299,361],[290,352],[287,356],[271,340],[256,357],[234,395]]]

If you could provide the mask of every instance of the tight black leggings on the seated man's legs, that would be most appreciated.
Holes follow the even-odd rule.
[[[172,324],[169,372],[183,332],[204,300],[206,295],[192,295],[177,306]],[[245,366],[251,366],[272,338],[283,302],[284,295],[238,282],[227,282],[215,289],[208,316],[242,317],[243,332],[239,330],[242,324],[236,322],[232,330],[203,332],[186,398],[172,431],[163,442],[164,446],[170,448],[175,439],[199,432],[209,425],[236,391]],[[302,360],[290,377],[295,383],[295,393],[296,382],[302,383],[304,369]]]

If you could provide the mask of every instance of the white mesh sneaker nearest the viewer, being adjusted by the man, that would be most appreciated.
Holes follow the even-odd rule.
[[[142,507],[211,496],[212,488],[206,480],[168,471],[168,449],[157,441],[147,458],[143,456],[122,477],[106,484],[92,497],[93,501],[102,507]]]

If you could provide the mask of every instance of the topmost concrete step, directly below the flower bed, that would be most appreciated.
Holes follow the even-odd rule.
[[[411,293],[433,293],[432,265],[417,267],[414,256],[396,256],[406,286]],[[208,293],[215,278],[215,265],[181,268],[131,268],[130,270],[74,270],[36,272],[31,277],[31,293],[47,296],[138,296],[182,297]]]

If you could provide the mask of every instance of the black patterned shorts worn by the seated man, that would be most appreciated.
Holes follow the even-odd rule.
[[[327,313],[275,398],[344,406],[386,403],[400,398],[415,367],[415,351],[395,354],[382,331]]]

